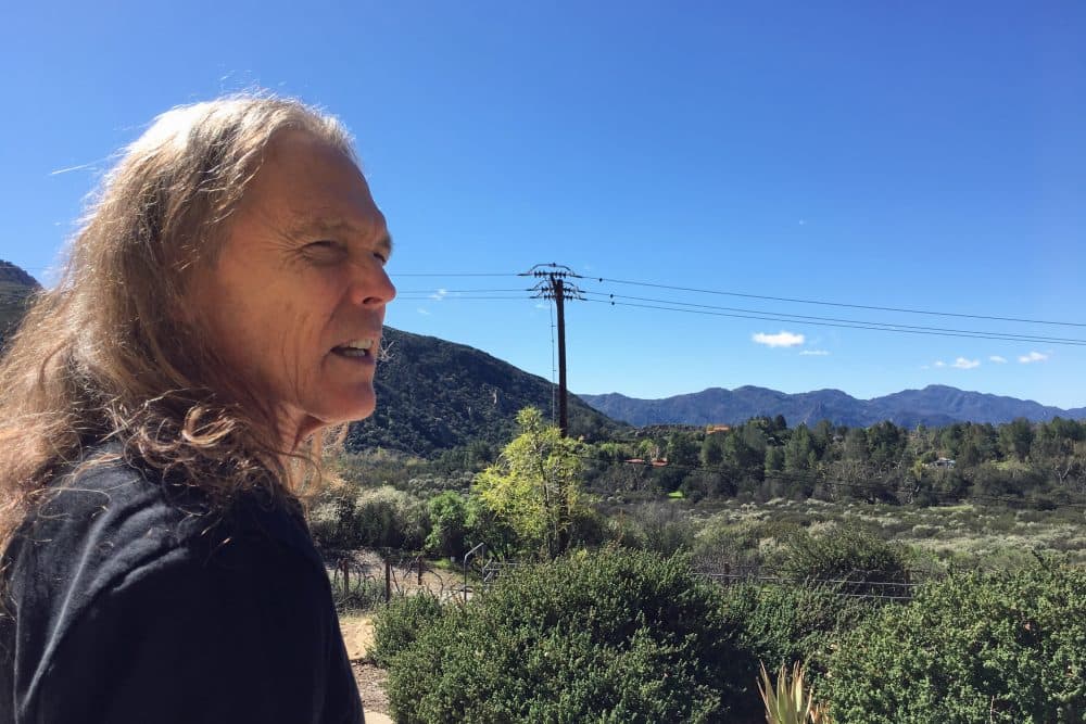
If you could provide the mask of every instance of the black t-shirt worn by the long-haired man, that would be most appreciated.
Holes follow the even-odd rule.
[[[295,510],[123,462],[53,490],[4,554],[0,724],[363,722]]]

